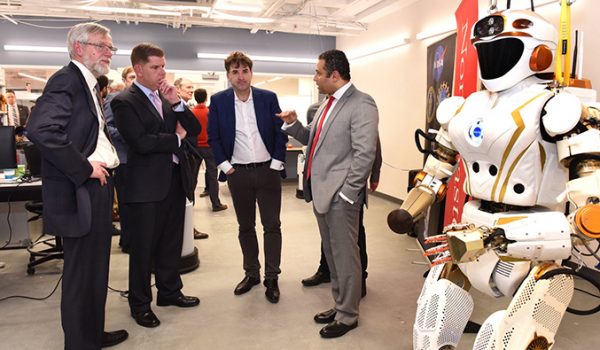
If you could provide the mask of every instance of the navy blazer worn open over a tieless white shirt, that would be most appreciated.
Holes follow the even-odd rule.
[[[283,121],[275,114],[281,112],[275,93],[252,87],[252,99],[258,131],[271,158],[285,162],[287,136],[281,131]],[[232,88],[214,94],[208,113],[208,143],[217,164],[230,161],[235,145],[235,94]],[[285,171],[281,172],[285,177]],[[221,173],[219,180],[225,180]]]

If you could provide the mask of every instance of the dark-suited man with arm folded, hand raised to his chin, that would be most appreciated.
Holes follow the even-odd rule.
[[[178,156],[183,139],[188,133],[197,135],[200,124],[165,80],[164,56],[154,44],[134,47],[131,64],[136,80],[111,102],[117,129],[129,147],[119,200],[128,204],[130,214],[129,307],[143,327],[160,324],[150,308],[153,266],[156,305],[193,307],[200,303],[181,292],[185,194]]]

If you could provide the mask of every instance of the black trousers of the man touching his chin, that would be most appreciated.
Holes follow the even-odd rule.
[[[185,195],[179,166],[173,167],[170,189],[161,201],[129,203],[132,229],[129,240],[129,307],[150,310],[152,266],[158,298],[181,296],[179,261],[183,244]]]

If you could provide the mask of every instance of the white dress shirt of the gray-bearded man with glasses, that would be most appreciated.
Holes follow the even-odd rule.
[[[114,169],[119,166],[119,156],[117,156],[117,151],[113,147],[112,143],[106,137],[104,133],[104,118],[102,118],[102,108],[100,107],[100,101],[96,97],[96,93],[94,92],[94,87],[98,84],[98,80],[86,66],[84,66],[81,62],[71,61],[73,62],[83,74],[85,78],[85,82],[92,94],[92,98],[94,99],[94,105],[96,107],[96,115],[98,116],[98,140],[96,141],[96,149],[94,152],[88,157],[88,160],[103,162],[106,164],[106,167],[109,169]]]

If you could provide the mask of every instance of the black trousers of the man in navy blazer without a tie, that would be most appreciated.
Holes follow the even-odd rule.
[[[277,279],[281,273],[281,176],[263,165],[257,168],[235,166],[227,183],[239,225],[238,239],[244,256],[246,276],[260,277],[256,204],[264,228],[265,279]]]

